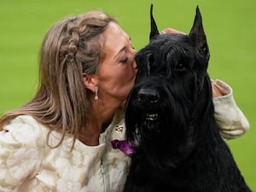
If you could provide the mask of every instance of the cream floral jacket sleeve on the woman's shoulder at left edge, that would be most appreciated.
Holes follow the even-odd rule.
[[[18,117],[0,131],[0,191],[15,191],[39,170],[44,144],[34,121]]]

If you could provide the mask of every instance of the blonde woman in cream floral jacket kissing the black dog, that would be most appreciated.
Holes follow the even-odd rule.
[[[0,121],[0,191],[122,191],[129,156],[110,142],[125,138],[122,106],[134,84],[135,54],[129,36],[102,12],[49,30],[36,96]],[[232,90],[213,84],[226,95],[215,105],[220,131],[241,136],[248,123]],[[225,116],[223,106],[236,115]]]

